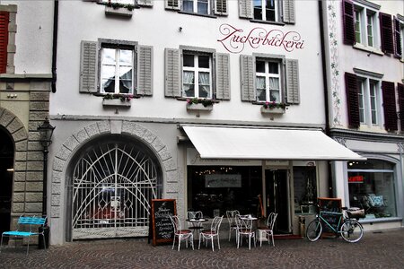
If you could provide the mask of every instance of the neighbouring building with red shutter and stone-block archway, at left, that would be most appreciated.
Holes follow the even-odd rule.
[[[42,214],[37,127],[48,117],[52,31],[52,2],[0,1],[0,232]]]

